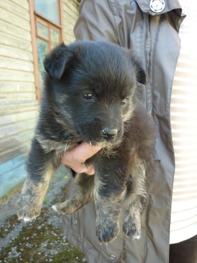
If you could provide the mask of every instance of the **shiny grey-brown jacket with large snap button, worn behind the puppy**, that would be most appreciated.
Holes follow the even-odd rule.
[[[146,69],[147,84],[139,85],[139,98],[158,126],[155,159],[159,160],[159,165],[149,206],[142,214],[140,240],[125,238],[121,231],[115,241],[101,245],[95,236],[93,203],[63,217],[64,235],[85,254],[89,263],[169,261],[175,169],[170,98],[180,50],[178,31],[184,15],[178,0],[153,2],[165,2],[164,10],[159,13],[152,11],[150,0],[82,0],[80,16],[75,25],[77,39],[118,43],[132,49],[140,57]],[[69,196],[72,191],[71,183]]]

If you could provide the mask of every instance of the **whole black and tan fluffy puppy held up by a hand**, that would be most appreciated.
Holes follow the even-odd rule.
[[[154,174],[155,124],[136,96],[145,73],[129,50],[108,42],[75,41],[44,59],[39,121],[27,160],[27,179],[16,204],[24,221],[40,214],[60,157],[81,142],[102,150],[85,164],[94,176],[77,174],[74,195],[53,206],[70,214],[94,200],[96,235],[114,240],[124,201],[123,231],[139,239],[140,215]]]

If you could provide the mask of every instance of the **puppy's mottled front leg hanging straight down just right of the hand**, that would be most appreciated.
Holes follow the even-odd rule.
[[[126,188],[124,172],[120,167],[116,167],[117,163],[105,160],[100,168],[96,169],[94,177],[96,235],[102,244],[111,242],[119,234]]]

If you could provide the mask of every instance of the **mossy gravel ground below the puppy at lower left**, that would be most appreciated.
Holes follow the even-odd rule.
[[[20,193],[0,208],[0,262],[82,263],[84,255],[62,234],[62,218],[51,209],[66,198],[70,174],[61,165],[48,188],[36,220],[18,220],[14,205]]]

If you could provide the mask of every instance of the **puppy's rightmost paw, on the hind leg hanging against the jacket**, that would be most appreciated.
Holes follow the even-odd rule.
[[[133,217],[129,216],[127,221],[124,221],[123,232],[127,237],[131,239],[141,238],[141,226],[139,220],[133,220]]]

